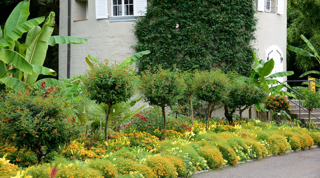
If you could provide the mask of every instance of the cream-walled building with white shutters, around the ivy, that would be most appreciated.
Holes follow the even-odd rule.
[[[252,42],[259,50],[256,55],[265,61],[275,60],[273,73],[286,71],[287,1],[255,0],[253,3],[259,19],[257,40]],[[137,16],[144,16],[146,5],[147,0],[60,0],[60,35],[82,37],[88,42],[59,46],[59,77],[83,74],[89,69],[85,62],[89,54],[119,62],[134,54],[130,46],[136,44],[137,39],[132,25]]]

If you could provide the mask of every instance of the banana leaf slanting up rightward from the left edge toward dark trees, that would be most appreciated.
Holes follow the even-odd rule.
[[[0,48],[11,46],[15,40],[21,38],[23,33],[28,32],[30,28],[32,28],[33,26],[39,25],[43,21],[44,21],[44,17],[38,17],[36,19],[28,20],[16,26],[9,33],[7,33],[2,40],[0,40]]]

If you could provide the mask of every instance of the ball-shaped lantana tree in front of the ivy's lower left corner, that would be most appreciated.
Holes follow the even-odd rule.
[[[162,108],[164,120],[163,139],[166,136],[165,107],[172,106],[177,102],[184,91],[183,79],[177,72],[170,70],[153,69],[142,73],[140,78],[141,92],[144,99],[151,105]]]

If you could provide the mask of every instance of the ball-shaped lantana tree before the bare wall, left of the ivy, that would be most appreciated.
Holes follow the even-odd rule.
[[[118,67],[108,61],[95,60],[94,62],[94,65],[90,65],[91,69],[86,71],[83,83],[87,90],[86,95],[90,99],[106,105],[105,137],[108,141],[111,107],[132,97],[135,92],[136,76],[130,67],[123,67],[123,65]]]

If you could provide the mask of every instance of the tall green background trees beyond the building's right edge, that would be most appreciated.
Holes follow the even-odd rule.
[[[288,45],[311,52],[308,45],[300,38],[300,35],[303,34],[313,44],[316,51],[319,51],[320,2],[316,0],[288,0],[287,2]],[[288,80],[296,80],[302,73],[308,70],[319,70],[319,67],[314,57],[302,56],[287,50],[287,70],[294,71],[294,75],[288,76]],[[289,85],[300,85],[300,83]]]

